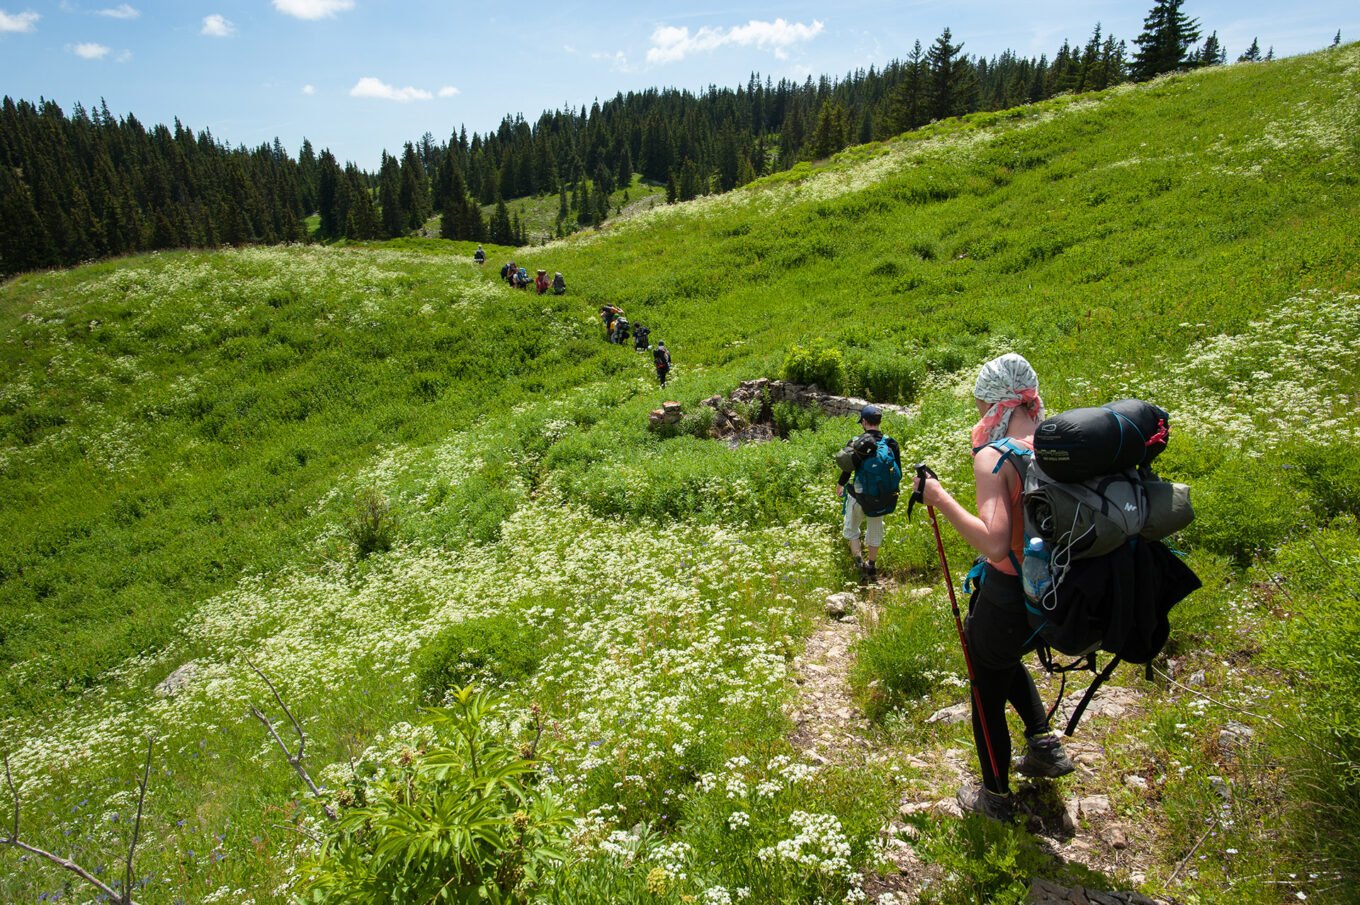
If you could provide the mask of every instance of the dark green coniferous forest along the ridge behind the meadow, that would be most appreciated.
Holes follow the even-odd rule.
[[[1201,42],[1182,3],[1157,1],[1133,53],[1099,24],[1053,59],[970,56],[945,29],[929,48],[917,41],[906,59],[839,79],[752,73],[736,88],[630,91],[533,124],[506,116],[486,135],[460,128],[438,142],[427,132],[400,158],[384,154],[378,173],[341,166],[309,140],[294,158],[277,139],[230,147],[180,120],[118,118],[103,102],[68,116],[53,101],[5,97],[0,274],[169,248],[392,238],[434,216],[445,238],[522,245],[540,237],[510,219],[505,200],[558,195],[564,234],[602,222],[634,173],[683,201],[933,120],[1227,61],[1217,33]],[[1240,59],[1270,56],[1254,41]]]

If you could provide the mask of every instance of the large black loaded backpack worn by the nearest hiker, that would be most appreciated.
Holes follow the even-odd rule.
[[[1164,410],[1126,399],[1040,422],[1034,450],[1010,440],[987,444],[1001,453],[993,474],[1009,461],[1021,478],[1025,546],[1021,561],[1010,559],[1040,661],[1050,672],[1095,672],[1096,651],[1114,655],[1068,735],[1121,660],[1151,663],[1170,634],[1167,612],[1200,587],[1160,543],[1194,519],[1189,487],[1151,470],[1168,421]],[[1057,665],[1053,652],[1078,660]]]

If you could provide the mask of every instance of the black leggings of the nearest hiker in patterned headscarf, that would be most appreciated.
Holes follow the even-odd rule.
[[[1034,629],[1024,614],[1024,591],[1020,578],[987,566],[982,588],[968,607],[964,625],[978,697],[987,720],[987,734],[997,755],[1001,776],[991,772],[987,744],[982,734],[978,702],[972,706],[972,740],[982,763],[982,784],[991,792],[1010,791],[1010,731],[1006,728],[1006,701],[1024,721],[1027,736],[1049,731],[1047,712],[1034,687],[1030,671],[1020,659],[1034,651]]]

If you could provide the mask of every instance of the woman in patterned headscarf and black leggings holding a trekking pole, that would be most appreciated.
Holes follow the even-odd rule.
[[[1030,362],[1010,352],[982,366],[972,395],[982,416],[972,427],[978,514],[964,509],[933,476],[918,478],[915,491],[986,557],[963,631],[975,680],[972,739],[982,784],[963,787],[957,797],[966,811],[1005,821],[1013,812],[1006,701],[1024,721],[1025,754],[1017,768],[1021,773],[1058,777],[1072,773],[1073,765],[1053,735],[1039,691],[1020,661],[1038,646],[1015,565],[1025,543],[1021,483],[1016,468],[1001,467],[1002,452],[991,445],[1009,438],[1034,449],[1034,431],[1043,416],[1039,378]]]

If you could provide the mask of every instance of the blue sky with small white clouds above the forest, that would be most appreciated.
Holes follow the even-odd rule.
[[[842,76],[906,56],[949,27],[964,52],[1053,54],[1099,22],[1133,44],[1152,0],[967,3],[802,0],[681,7],[654,0],[0,0],[0,94],[68,113],[103,98],[143,124],[230,144],[303,137],[377,169],[424,132],[495,129],[506,113],[579,108],[617,91],[736,86],[752,72]],[[1360,38],[1356,0],[1186,0],[1231,57]]]

